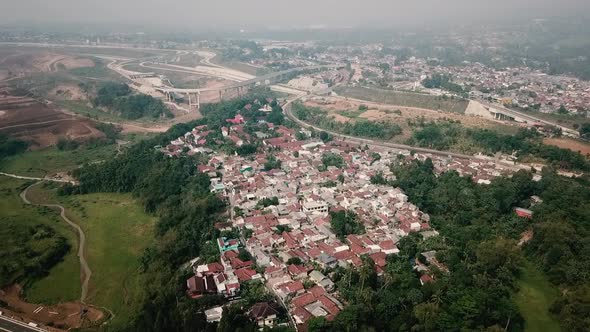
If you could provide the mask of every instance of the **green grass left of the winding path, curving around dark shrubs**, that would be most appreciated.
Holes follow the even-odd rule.
[[[80,265],[76,256],[77,238],[56,211],[48,208],[26,205],[19,197],[20,192],[27,186],[24,180],[0,176],[0,252],[4,249],[15,250],[24,246],[31,246],[43,250],[44,240],[31,238],[26,243],[12,243],[14,232],[27,227],[37,228],[46,225],[55,230],[56,235],[67,239],[72,248],[49,271],[49,276],[40,280],[21,280],[26,287],[25,298],[31,302],[56,303],[72,301],[80,298]],[[19,263],[17,255],[12,255],[13,263]],[[6,257],[2,257],[6,259]]]

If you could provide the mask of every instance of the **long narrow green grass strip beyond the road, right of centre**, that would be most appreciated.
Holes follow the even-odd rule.
[[[460,99],[444,99],[426,94],[396,92],[392,90],[340,87],[335,91],[345,97],[362,99],[376,103],[391,104],[406,107],[419,107],[431,110],[443,110],[446,112],[464,113],[468,102]]]

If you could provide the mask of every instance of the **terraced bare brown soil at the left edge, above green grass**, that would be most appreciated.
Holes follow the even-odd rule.
[[[27,97],[0,95],[0,133],[31,142],[33,149],[54,145],[61,138],[103,137],[93,122],[69,116]]]

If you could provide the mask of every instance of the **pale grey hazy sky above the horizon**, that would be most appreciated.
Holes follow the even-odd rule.
[[[0,0],[0,24],[257,28],[466,23],[590,13],[590,0]]]

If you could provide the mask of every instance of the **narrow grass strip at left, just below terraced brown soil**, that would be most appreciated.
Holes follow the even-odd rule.
[[[0,171],[25,176],[42,177],[58,171],[70,171],[88,162],[112,158],[115,144],[93,149],[80,147],[74,151],[60,151],[56,147],[28,151],[0,161]]]

